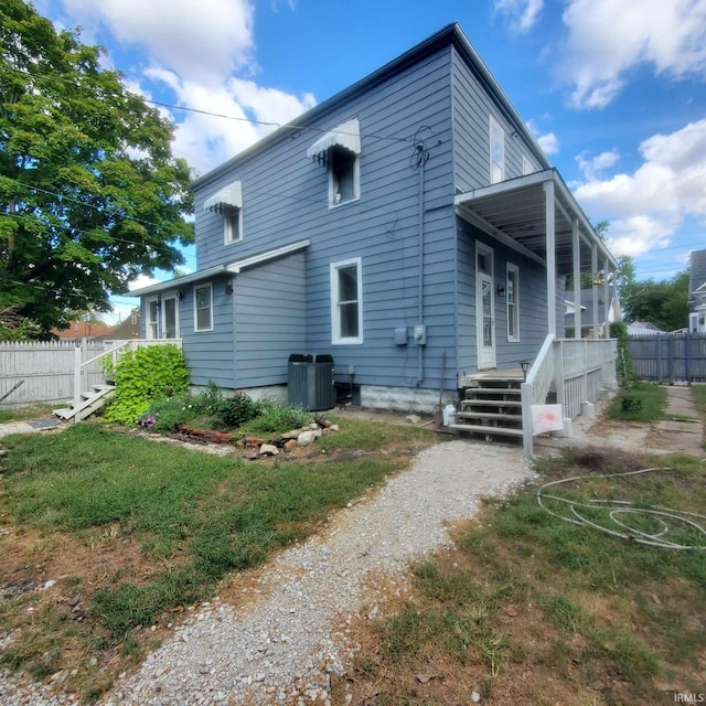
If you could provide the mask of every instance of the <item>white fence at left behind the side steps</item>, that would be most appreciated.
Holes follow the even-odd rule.
[[[36,403],[67,404],[74,398],[74,375],[79,349],[81,361],[90,361],[125,345],[126,341],[49,341],[44,343],[0,343],[0,409],[28,407]],[[136,340],[131,346],[173,343],[181,340]],[[82,370],[82,386],[105,383],[103,361]],[[14,388],[14,389],[13,389]],[[4,397],[7,395],[7,397]],[[2,399],[4,397],[4,399]]]

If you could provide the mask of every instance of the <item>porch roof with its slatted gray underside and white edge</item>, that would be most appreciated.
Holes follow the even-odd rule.
[[[521,250],[534,259],[547,261],[547,217],[545,185],[554,182],[555,256],[559,272],[569,272],[574,263],[573,224],[576,222],[581,240],[579,261],[581,269],[591,267],[591,245],[596,243],[599,267],[608,259],[616,260],[584,215],[571,192],[556,170],[518,176],[491,186],[475,189],[456,196],[459,215],[468,216],[494,235],[510,238]]]

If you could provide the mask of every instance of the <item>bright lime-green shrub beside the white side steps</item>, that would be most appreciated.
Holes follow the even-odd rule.
[[[175,345],[128,351],[115,367],[115,397],[106,410],[106,419],[133,426],[151,403],[183,395],[188,386],[186,363]]]

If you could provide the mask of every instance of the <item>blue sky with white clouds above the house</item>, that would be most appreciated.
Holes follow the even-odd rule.
[[[154,100],[284,124],[461,24],[638,279],[706,248],[706,0],[35,0]],[[268,128],[164,109],[195,173]],[[193,266],[193,258],[192,266]],[[146,281],[139,282],[140,286]],[[125,315],[135,300],[117,298]]]

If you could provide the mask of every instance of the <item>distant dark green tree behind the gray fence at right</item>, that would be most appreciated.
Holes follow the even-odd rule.
[[[622,304],[628,321],[649,321],[663,331],[675,331],[688,325],[687,300],[688,270],[683,270],[670,280],[638,282]]]

